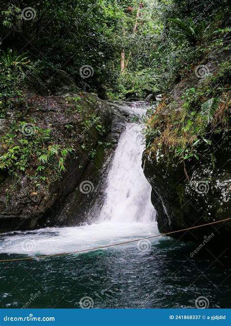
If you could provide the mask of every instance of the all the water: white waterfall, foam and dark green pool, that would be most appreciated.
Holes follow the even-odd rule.
[[[157,235],[151,186],[141,168],[143,150],[141,127],[127,124],[93,223],[2,234],[0,260]],[[213,308],[228,307],[229,268],[224,266],[230,261],[214,261],[203,250],[191,257],[195,248],[191,242],[161,237],[84,254],[0,263],[0,306],[79,308],[81,298],[90,297],[95,308],[193,308],[195,299],[205,296]]]

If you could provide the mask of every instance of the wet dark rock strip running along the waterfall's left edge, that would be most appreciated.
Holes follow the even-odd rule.
[[[53,212],[50,212],[48,219],[55,225],[77,225],[81,222],[91,222],[103,205],[105,181],[119,136],[124,131],[126,123],[137,114],[133,109],[135,106],[133,103],[104,102],[104,105],[112,112],[105,136],[106,142],[111,146],[109,148],[104,145],[97,147],[94,159],[86,166],[77,187],[66,197],[64,204],[56,204],[53,207]],[[86,189],[86,193],[81,192],[79,185],[87,185],[88,181],[91,182],[90,188]]]

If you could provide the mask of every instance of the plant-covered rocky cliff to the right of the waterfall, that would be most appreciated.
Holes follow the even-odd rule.
[[[231,217],[229,51],[210,53],[163,96],[150,117],[144,173],[160,232]],[[231,222],[174,234],[230,244]],[[214,237],[213,237],[214,236]]]

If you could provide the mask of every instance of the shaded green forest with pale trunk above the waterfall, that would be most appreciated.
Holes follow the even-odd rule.
[[[1,1],[1,53],[10,51],[1,96],[28,85],[49,92],[45,82],[59,70],[101,98],[166,92],[227,39],[229,9],[228,0]],[[79,73],[84,65],[91,78]]]

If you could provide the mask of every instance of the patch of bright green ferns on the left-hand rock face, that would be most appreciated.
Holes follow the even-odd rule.
[[[11,131],[1,137],[1,144],[5,150],[0,157],[0,170],[8,171],[9,174],[18,175],[27,168],[41,175],[46,169],[58,166],[59,172],[66,171],[65,161],[67,156],[74,151],[73,148],[65,148],[51,142],[51,130],[36,128],[36,132],[30,137],[21,138],[21,126],[25,122],[19,122]],[[18,146],[13,144],[18,143]],[[31,165],[33,162],[33,165]]]

